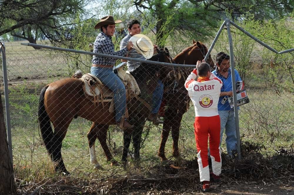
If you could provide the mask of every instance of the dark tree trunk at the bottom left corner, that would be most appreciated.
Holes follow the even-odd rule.
[[[9,157],[3,106],[0,94],[0,195],[15,193],[13,166]]]

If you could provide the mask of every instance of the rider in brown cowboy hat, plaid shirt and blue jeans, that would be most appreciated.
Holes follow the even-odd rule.
[[[93,52],[103,53],[108,55],[117,55],[125,57],[127,52],[132,49],[132,42],[128,42],[125,47],[115,52],[111,37],[115,31],[115,24],[121,23],[121,20],[114,21],[112,16],[101,18],[95,26],[95,29],[100,29],[101,32],[96,37],[93,46]],[[115,120],[117,125],[122,129],[132,128],[133,126],[128,121],[121,121],[126,111],[126,89],[121,79],[113,73],[113,65],[116,59],[99,57],[93,55],[91,74],[98,77],[103,84],[109,87],[114,93]]]

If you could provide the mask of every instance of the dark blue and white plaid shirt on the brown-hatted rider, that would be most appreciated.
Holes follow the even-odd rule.
[[[115,52],[111,37],[108,37],[105,33],[101,32],[96,37],[96,40],[93,46],[93,52],[125,57],[128,52],[128,49],[125,47]],[[100,64],[100,65],[114,65],[116,60],[117,59],[114,59],[114,58],[107,58],[107,57],[100,57],[100,56],[93,55],[92,63]]]

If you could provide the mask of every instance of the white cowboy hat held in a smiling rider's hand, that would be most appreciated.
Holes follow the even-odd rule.
[[[130,38],[130,41],[133,42],[133,48],[135,48],[137,52],[142,54],[146,59],[153,56],[153,43],[146,35],[133,35]]]

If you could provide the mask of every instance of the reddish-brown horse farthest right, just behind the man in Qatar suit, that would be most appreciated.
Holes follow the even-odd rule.
[[[181,53],[173,58],[173,60],[177,64],[195,65],[196,67],[197,60],[203,60],[207,52],[208,50],[203,43],[193,40],[193,45],[185,48]],[[214,63],[211,59],[211,55],[209,55],[206,62],[211,66],[211,68],[213,68]],[[163,94],[163,102],[166,103],[167,108],[164,111],[163,130],[158,150],[158,156],[161,158],[161,161],[167,160],[164,151],[170,130],[173,138],[173,156],[179,157],[178,140],[180,124],[183,114],[188,110],[187,108],[190,102],[184,83],[192,70],[193,69],[178,68],[177,71],[181,74],[181,79],[179,79],[173,89],[170,89]]]

